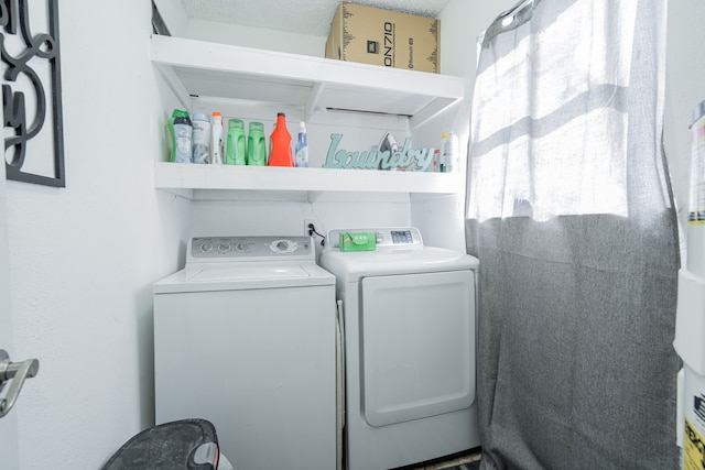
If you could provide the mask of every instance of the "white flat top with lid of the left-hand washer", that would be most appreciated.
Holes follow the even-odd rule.
[[[335,284],[335,276],[313,263],[218,263],[189,266],[153,286],[154,294],[306,287]]]

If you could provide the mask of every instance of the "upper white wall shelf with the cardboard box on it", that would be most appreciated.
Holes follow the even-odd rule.
[[[424,72],[152,35],[152,62],[188,96],[406,116],[413,129],[464,96],[464,79]]]

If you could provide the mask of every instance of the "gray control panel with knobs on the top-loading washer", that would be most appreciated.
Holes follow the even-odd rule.
[[[187,262],[246,261],[280,256],[314,258],[311,237],[194,237]]]

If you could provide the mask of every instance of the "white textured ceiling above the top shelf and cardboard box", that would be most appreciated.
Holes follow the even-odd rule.
[[[326,36],[339,0],[181,0],[189,18]],[[448,0],[355,0],[436,18]],[[253,8],[253,6],[256,6]]]

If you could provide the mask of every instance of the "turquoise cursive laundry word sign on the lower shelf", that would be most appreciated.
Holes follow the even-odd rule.
[[[324,168],[403,168],[411,172],[425,172],[433,162],[433,147],[411,149],[411,138],[404,140],[401,147],[386,150],[349,151],[343,149],[343,134],[330,134],[330,144]]]

